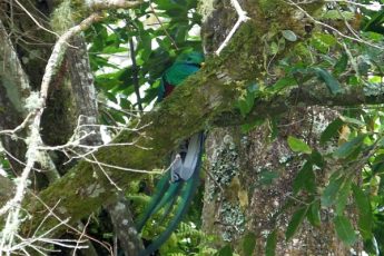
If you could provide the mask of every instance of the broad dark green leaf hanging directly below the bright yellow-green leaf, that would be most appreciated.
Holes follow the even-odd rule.
[[[316,190],[316,176],[313,170],[312,163],[309,161],[306,161],[303,165],[294,179],[294,195],[296,195],[302,188],[305,188],[308,193],[315,193]]]

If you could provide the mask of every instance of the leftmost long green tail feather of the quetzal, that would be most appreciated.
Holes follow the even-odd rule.
[[[139,221],[136,224],[136,229],[140,233],[142,227],[146,225],[147,220],[152,216],[155,213],[155,209],[157,209],[159,203],[161,201],[161,198],[164,197],[164,194],[169,188],[169,171],[167,175],[164,175],[161,179],[157,183],[155,188],[155,194],[151,196],[150,203],[148,207],[146,208],[146,211],[142,214],[142,216],[139,218]]]

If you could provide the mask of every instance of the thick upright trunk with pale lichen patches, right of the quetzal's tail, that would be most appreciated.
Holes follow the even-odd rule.
[[[250,6],[250,2],[242,1],[242,4],[248,8],[248,13],[257,12],[262,3]],[[235,10],[230,8],[229,1],[217,3],[214,8],[204,24],[204,48],[208,53],[218,48],[234,20],[236,21]],[[263,58],[262,55],[258,57]],[[268,108],[268,105],[264,107]],[[240,127],[215,128],[209,131],[206,141],[208,163],[203,229],[219,238],[214,246],[220,248],[230,243],[240,255],[245,255],[242,243],[249,234],[255,235],[253,255],[265,255],[267,236],[274,230],[277,234],[276,255],[349,255],[349,249],[336,238],[333,214],[326,210],[322,213],[319,228],[304,221],[295,237],[285,240],[292,214],[305,204],[293,196],[292,188],[304,159],[295,157],[287,146],[287,137],[303,138],[313,145],[318,141],[322,128],[337,112],[326,108],[294,106],[289,106],[286,111],[287,106],[283,101],[282,105],[269,105],[269,111],[275,107],[276,116],[264,116],[267,118],[264,125],[250,132],[242,132]],[[266,110],[259,107],[254,109],[259,117]],[[286,116],[278,115],[279,111]],[[278,116],[279,119],[276,119]],[[319,117],[323,119],[318,119]],[[249,115],[247,120],[252,122],[255,119]],[[326,169],[317,173],[318,183],[322,184],[326,173]],[[354,213],[349,213],[349,217],[353,215]],[[361,243],[357,243],[355,252],[362,252]]]

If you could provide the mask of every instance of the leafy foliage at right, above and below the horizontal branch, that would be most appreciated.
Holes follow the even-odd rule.
[[[357,17],[352,9],[325,9],[322,19],[332,24],[341,17],[351,22],[361,19],[363,39],[383,47],[383,29],[377,24],[383,23],[384,12],[364,9],[362,17]],[[282,31],[282,37],[283,41],[296,41],[296,35],[291,30]],[[265,49],[269,58],[284,51],[285,43],[282,38],[276,38],[277,41]],[[318,30],[306,42],[298,42],[292,55],[279,60],[278,68],[269,70],[275,79],[259,82],[256,95],[247,91],[242,96],[238,108],[246,116],[258,98],[283,95],[307,85],[321,86],[316,81],[323,82],[332,95],[364,87],[366,95],[374,96],[383,87],[383,50]],[[303,164],[293,183],[293,195],[302,203],[288,204],[285,209],[289,208],[292,216],[286,239],[297,233],[305,218],[314,227],[321,226],[322,208],[332,208],[335,232],[342,242],[351,246],[362,237],[366,252],[382,253],[384,234],[378,232],[384,219],[384,197],[380,194],[384,187],[382,116],[382,106],[344,108],[323,129],[318,141],[307,144],[288,136],[289,148]],[[253,126],[245,127],[248,131]],[[324,170],[329,171],[329,178],[322,184],[319,177]],[[357,209],[357,224],[345,217],[352,208]],[[267,255],[274,255],[276,239],[274,230],[267,237]]]

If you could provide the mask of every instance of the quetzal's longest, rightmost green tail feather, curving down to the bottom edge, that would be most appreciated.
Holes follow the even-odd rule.
[[[198,185],[198,178],[199,178],[199,171],[195,171],[194,176],[187,180],[184,181],[185,189],[181,194],[181,201],[179,206],[177,207],[177,210],[175,213],[174,219],[170,220],[168,224],[167,229],[161,233],[145,250],[140,252],[139,256],[148,256],[156,252],[173,234],[173,232],[177,228],[178,224],[181,221],[183,217],[186,215],[189,205],[193,201],[195,191],[197,189]]]

